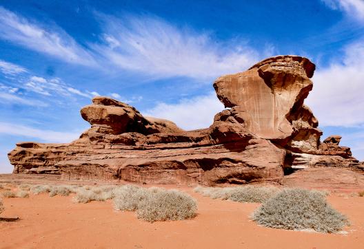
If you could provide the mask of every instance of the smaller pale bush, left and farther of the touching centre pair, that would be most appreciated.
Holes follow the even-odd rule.
[[[114,190],[114,208],[116,210],[137,210],[139,204],[147,197],[148,193],[145,188],[134,185],[124,185],[116,188]]]

